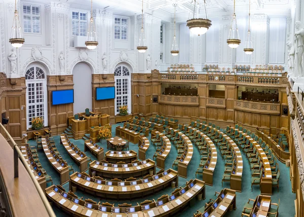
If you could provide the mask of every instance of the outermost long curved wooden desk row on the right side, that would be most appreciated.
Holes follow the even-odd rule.
[[[246,139],[249,140],[249,142],[252,142],[253,147],[255,147],[256,151],[258,152],[258,156],[261,159],[262,162],[262,177],[260,179],[260,190],[261,194],[266,194],[266,195],[272,195],[272,172],[271,172],[271,166],[268,160],[267,155],[265,154],[264,150],[260,145],[249,135],[244,133],[243,131],[233,128],[235,131],[238,131],[239,134],[242,136],[246,136]]]

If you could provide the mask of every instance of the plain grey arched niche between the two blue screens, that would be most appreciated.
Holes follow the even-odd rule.
[[[74,114],[92,111],[92,68],[85,62],[77,63],[72,71],[74,82]]]

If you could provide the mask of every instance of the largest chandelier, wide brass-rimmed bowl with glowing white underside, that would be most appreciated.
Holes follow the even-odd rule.
[[[199,18],[199,7],[197,8],[197,18],[194,18],[195,8],[196,8],[196,0],[194,0],[194,10],[193,10],[193,19],[187,20],[187,26],[191,30],[192,33],[205,34],[209,27],[212,25],[211,20],[208,19],[207,9],[206,9],[206,0],[204,0],[206,19]]]

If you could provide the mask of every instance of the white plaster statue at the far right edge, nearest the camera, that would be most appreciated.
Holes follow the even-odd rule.
[[[303,77],[303,67],[302,67],[302,55],[303,55],[303,45],[304,45],[304,29],[300,21],[295,22],[295,60],[296,60],[296,70],[295,77]]]

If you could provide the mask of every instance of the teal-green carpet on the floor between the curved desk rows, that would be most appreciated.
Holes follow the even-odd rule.
[[[112,137],[115,136],[116,126],[122,126],[122,125],[123,124],[115,124],[112,126]],[[148,136],[148,138],[150,139],[150,135]],[[68,165],[72,165],[74,172],[80,171],[77,164],[74,163],[74,161],[71,159],[71,157],[65,151],[64,147],[60,144],[60,137],[54,136],[54,140],[55,140],[56,148],[60,152],[62,158],[67,161]],[[79,139],[79,140],[70,139],[70,141],[73,142],[74,144],[76,144],[82,151],[84,151],[84,140],[83,139]],[[36,146],[36,142],[33,140],[30,140],[29,143],[31,146]],[[105,140],[102,143],[98,143],[98,144],[99,144],[99,146],[101,146],[104,149],[105,152],[107,151]],[[137,144],[130,143],[129,148],[130,148],[130,150],[134,150],[135,152],[138,153]],[[155,153],[154,146],[150,145],[149,149],[146,152],[146,159],[149,159],[149,158],[153,159],[154,153]],[[96,157],[93,156],[90,152],[86,152],[86,155],[88,157],[91,157],[92,160],[97,160]],[[172,163],[176,159],[176,156],[177,156],[177,151],[176,151],[175,147],[172,146],[170,154],[166,159],[166,163],[165,163],[166,168],[165,169],[172,168]],[[220,156],[219,152],[218,152],[218,156]],[[55,184],[55,185],[60,184],[59,174],[51,166],[51,164],[49,163],[43,150],[39,151],[39,159],[40,159],[40,162],[41,162],[43,168],[47,171],[47,173],[49,175],[52,176],[53,184]],[[272,202],[278,203],[279,198],[280,198],[281,202],[280,202],[280,208],[279,208],[279,216],[284,216],[284,217],[285,216],[286,217],[294,216],[294,214],[295,214],[295,208],[294,208],[295,194],[291,192],[291,183],[290,183],[290,179],[289,179],[289,167],[286,167],[285,164],[281,163],[280,161],[278,161],[278,163],[279,163],[279,169],[281,172],[280,182],[279,182],[280,192],[277,192],[277,188],[273,188],[273,195],[271,196]],[[199,164],[200,164],[200,155],[199,155],[198,150],[194,147],[193,158],[192,158],[190,164],[188,165],[188,169],[187,169],[188,177],[187,178],[179,177],[179,181],[178,181],[179,186],[185,186],[186,180],[195,178],[195,172],[196,172]],[[177,167],[175,167],[174,169],[177,170]],[[159,170],[159,169],[157,169],[157,170]],[[183,209],[182,212],[178,213],[175,216],[191,217],[191,216],[193,216],[193,213],[196,212],[197,209],[201,208],[202,206],[205,205],[205,202],[209,201],[209,198],[212,198],[212,199],[216,198],[214,196],[215,191],[219,192],[222,189],[221,178],[223,175],[223,171],[224,171],[224,162],[220,157],[218,157],[217,164],[216,164],[216,167],[214,170],[213,186],[206,186],[206,199],[197,201],[193,207],[187,207],[187,208]],[[70,172],[70,174],[71,174],[71,172]],[[198,178],[202,179],[202,175],[198,175]],[[51,184],[48,184],[48,187],[50,185]],[[68,183],[63,185],[63,187],[65,188],[66,191],[68,191],[68,189],[69,189],[68,185],[69,185]],[[229,182],[224,183],[223,188],[230,188],[230,183]],[[119,201],[119,202],[95,198],[93,195],[86,194],[86,193],[84,194],[81,191],[77,191],[75,194],[78,195],[79,197],[84,197],[84,199],[90,198],[96,202],[99,202],[99,201],[106,202],[107,201],[109,203],[115,203],[115,206],[118,206],[118,204],[122,204],[124,202],[132,203],[132,205],[137,205],[137,203],[140,203],[140,202],[144,201],[145,199],[150,199],[150,200],[155,199],[156,200],[157,198],[161,197],[164,194],[171,194],[172,191],[173,191],[172,188],[166,188],[164,191],[161,191],[155,195],[150,195],[146,198],[140,198],[140,199],[135,199],[135,200],[131,200],[131,201]],[[225,214],[225,216],[241,216],[242,209],[243,209],[244,205],[246,204],[246,202],[248,201],[248,198],[255,199],[255,197],[259,194],[260,194],[259,186],[253,186],[253,192],[251,192],[251,171],[250,171],[248,161],[247,161],[246,157],[243,155],[242,193],[237,193],[237,210],[233,210],[232,212],[227,212]],[[54,211],[57,216],[66,216],[65,213],[62,213],[56,207],[54,207]]]

